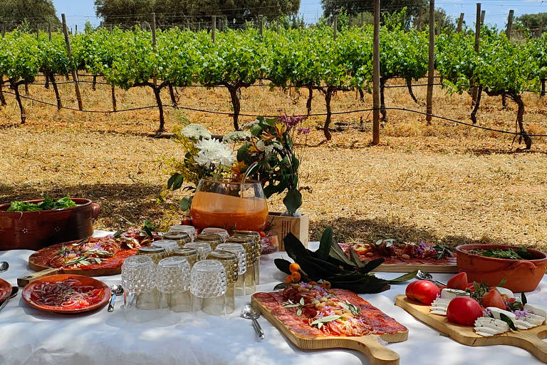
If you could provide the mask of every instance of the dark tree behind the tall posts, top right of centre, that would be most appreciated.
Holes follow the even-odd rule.
[[[409,19],[418,16],[420,9],[427,6],[427,0],[382,0],[380,1],[380,11],[387,13],[395,13],[407,8],[407,16]],[[355,0],[355,1],[340,1],[340,0],[321,0],[323,6],[323,16],[329,17],[338,14],[339,11],[345,11],[348,15],[355,15],[362,11],[374,11],[373,0]]]

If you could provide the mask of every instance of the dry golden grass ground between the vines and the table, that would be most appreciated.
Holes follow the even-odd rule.
[[[394,83],[392,83],[394,84]],[[63,85],[66,106],[75,106],[73,88]],[[21,88],[22,89],[22,88]],[[145,89],[117,89],[118,108],[154,103]],[[179,90],[179,105],[229,111],[224,88]],[[425,88],[415,88],[424,101]],[[30,96],[54,103],[53,91],[30,86]],[[307,91],[291,95],[267,87],[242,92],[245,113],[272,114],[278,109],[304,113]],[[162,96],[164,103],[170,98]],[[92,114],[41,106],[24,101],[25,125],[13,96],[0,108],[0,202],[35,198],[45,193],[90,197],[102,206],[99,229],[116,230],[152,220],[164,225],[180,220],[173,205],[180,195],[157,202],[167,181],[162,160],[181,157],[176,143],[152,139],[143,133],[157,128],[157,110],[118,114]],[[110,88],[92,91],[83,86],[85,108],[109,110]],[[547,98],[526,95],[525,123],[530,133],[547,133],[544,118]],[[386,91],[387,106],[424,110],[405,88]],[[468,96],[434,93],[434,113],[469,120]],[[355,93],[339,93],[333,110],[370,108]],[[325,110],[320,94],[313,112]],[[479,124],[514,130],[516,106],[501,108],[500,98],[483,98]],[[322,124],[324,117],[306,120]],[[360,129],[363,118],[363,130]],[[448,244],[504,242],[547,248],[547,164],[545,138],[533,138],[532,150],[519,152],[511,135],[468,128],[434,120],[426,125],[421,115],[388,110],[381,130],[382,143],[370,146],[372,115],[336,116],[348,123],[345,130],[323,141],[314,131],[308,140],[301,168],[301,211],[311,215],[312,238],[333,225],[343,240],[373,240],[378,235],[405,240],[429,239]],[[231,130],[227,116],[166,110],[167,129],[181,120],[203,123],[215,133]],[[242,121],[251,118],[241,118]],[[522,146],[521,146],[522,147]],[[272,199],[271,210],[281,209]]]

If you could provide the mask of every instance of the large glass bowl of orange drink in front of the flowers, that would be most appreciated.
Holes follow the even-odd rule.
[[[264,230],[268,205],[262,185],[256,181],[199,180],[190,207],[192,224],[199,230]]]

